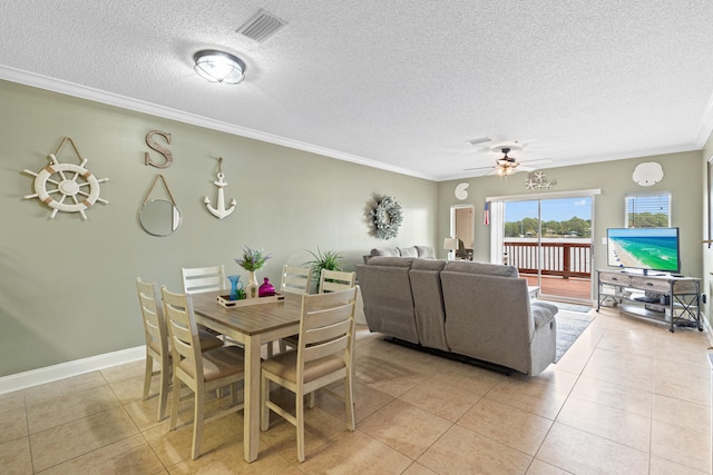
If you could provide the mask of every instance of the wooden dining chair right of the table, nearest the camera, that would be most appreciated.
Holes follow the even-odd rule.
[[[300,334],[296,352],[282,353],[262,363],[261,428],[270,428],[270,412],[282,416],[296,427],[297,458],[304,462],[304,396],[319,388],[344,380],[346,427],[354,431],[353,406],[353,344],[356,288],[330,294],[303,295]],[[270,398],[271,383],[294,393],[295,414]],[[307,398],[314,407],[314,398]]]

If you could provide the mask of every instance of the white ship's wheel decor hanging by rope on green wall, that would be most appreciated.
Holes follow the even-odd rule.
[[[79,158],[79,165],[60,164],[57,156],[69,141]],[[108,181],[108,178],[97,178],[91,171],[85,168],[87,159],[81,158],[77,146],[69,137],[65,137],[55,151],[47,157],[50,164],[39,172],[23,170],[25,174],[35,177],[35,192],[27,195],[25,199],[37,198],[48,207],[52,208],[49,217],[53,219],[57,211],[79,212],[81,219],[87,219],[85,210],[95,202],[107,205],[109,201],[99,198],[99,184]]]

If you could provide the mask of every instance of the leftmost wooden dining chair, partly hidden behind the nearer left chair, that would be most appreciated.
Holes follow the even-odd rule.
[[[146,370],[144,375],[144,400],[148,399],[152,387],[152,379],[155,375],[160,375],[158,386],[158,420],[166,416],[166,400],[168,398],[168,387],[170,386],[170,344],[168,343],[168,327],[164,318],[164,309],[160,296],[156,291],[156,284],[145,283],[140,277],[136,278],[136,289],[138,301],[141,308],[144,320],[144,334],[146,337]],[[201,349],[218,348],[223,346],[221,338],[207,333],[198,331]],[[154,363],[158,369],[154,370]]]

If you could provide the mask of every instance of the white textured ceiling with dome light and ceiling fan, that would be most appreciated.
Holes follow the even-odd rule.
[[[262,43],[235,31],[260,8],[287,22]],[[198,77],[206,48],[246,80]],[[551,158],[540,168],[701,149],[712,53],[711,0],[25,0],[0,16],[0,79],[433,180],[486,174],[463,171],[500,156],[478,137]]]

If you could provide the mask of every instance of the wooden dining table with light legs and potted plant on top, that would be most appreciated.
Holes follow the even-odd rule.
[[[293,299],[274,301],[256,298],[225,307],[218,303],[225,290],[192,294],[196,324],[218,331],[245,348],[244,431],[245,461],[254,462],[260,452],[261,346],[300,331],[300,305]],[[253,305],[246,305],[253,304]]]

